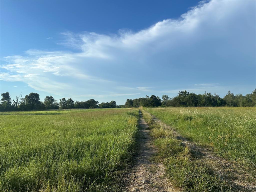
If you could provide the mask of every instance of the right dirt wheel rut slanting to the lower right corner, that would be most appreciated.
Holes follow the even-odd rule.
[[[176,132],[170,126],[157,119],[154,115],[151,116],[153,117],[155,123],[161,124],[166,129],[171,129],[174,135],[176,135],[178,139],[182,140],[184,146],[189,146],[191,154],[195,158],[207,163],[211,170],[226,178],[229,181],[229,184],[232,186],[232,189],[236,191],[256,191],[256,181],[245,181],[246,177],[248,176],[247,172],[237,170],[231,162],[217,156],[212,150],[197,146],[192,141],[189,141],[178,134],[178,132]]]

